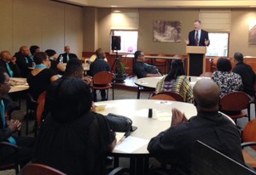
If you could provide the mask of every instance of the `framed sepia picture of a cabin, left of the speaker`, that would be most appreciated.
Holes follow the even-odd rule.
[[[153,22],[154,42],[181,42],[181,22],[155,20]]]

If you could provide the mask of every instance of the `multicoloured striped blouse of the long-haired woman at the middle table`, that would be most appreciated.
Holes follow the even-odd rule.
[[[189,99],[194,98],[187,76],[177,76],[176,80],[173,79],[171,82],[166,82],[165,79],[166,76],[164,76],[160,82],[157,83],[155,88],[156,94],[161,92],[178,93],[183,97],[184,101],[187,102],[189,102]]]

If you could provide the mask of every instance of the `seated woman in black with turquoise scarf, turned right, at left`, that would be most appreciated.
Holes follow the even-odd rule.
[[[31,93],[33,99],[37,100],[38,96],[48,88],[49,83],[58,79],[58,76],[49,69],[50,62],[46,53],[38,52],[34,55],[34,61],[36,67],[27,76],[26,82],[29,85],[29,93]]]

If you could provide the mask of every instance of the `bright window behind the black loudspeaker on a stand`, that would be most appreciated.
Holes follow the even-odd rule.
[[[114,31],[113,30],[111,32],[111,35],[121,37],[121,44],[120,44],[121,49],[119,50],[120,53],[134,53],[137,51],[137,31]],[[111,37],[110,37],[110,40],[111,40]]]

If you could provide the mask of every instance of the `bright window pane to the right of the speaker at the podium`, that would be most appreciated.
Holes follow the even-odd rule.
[[[209,33],[210,45],[207,47],[207,56],[227,57],[229,37],[229,33]]]

